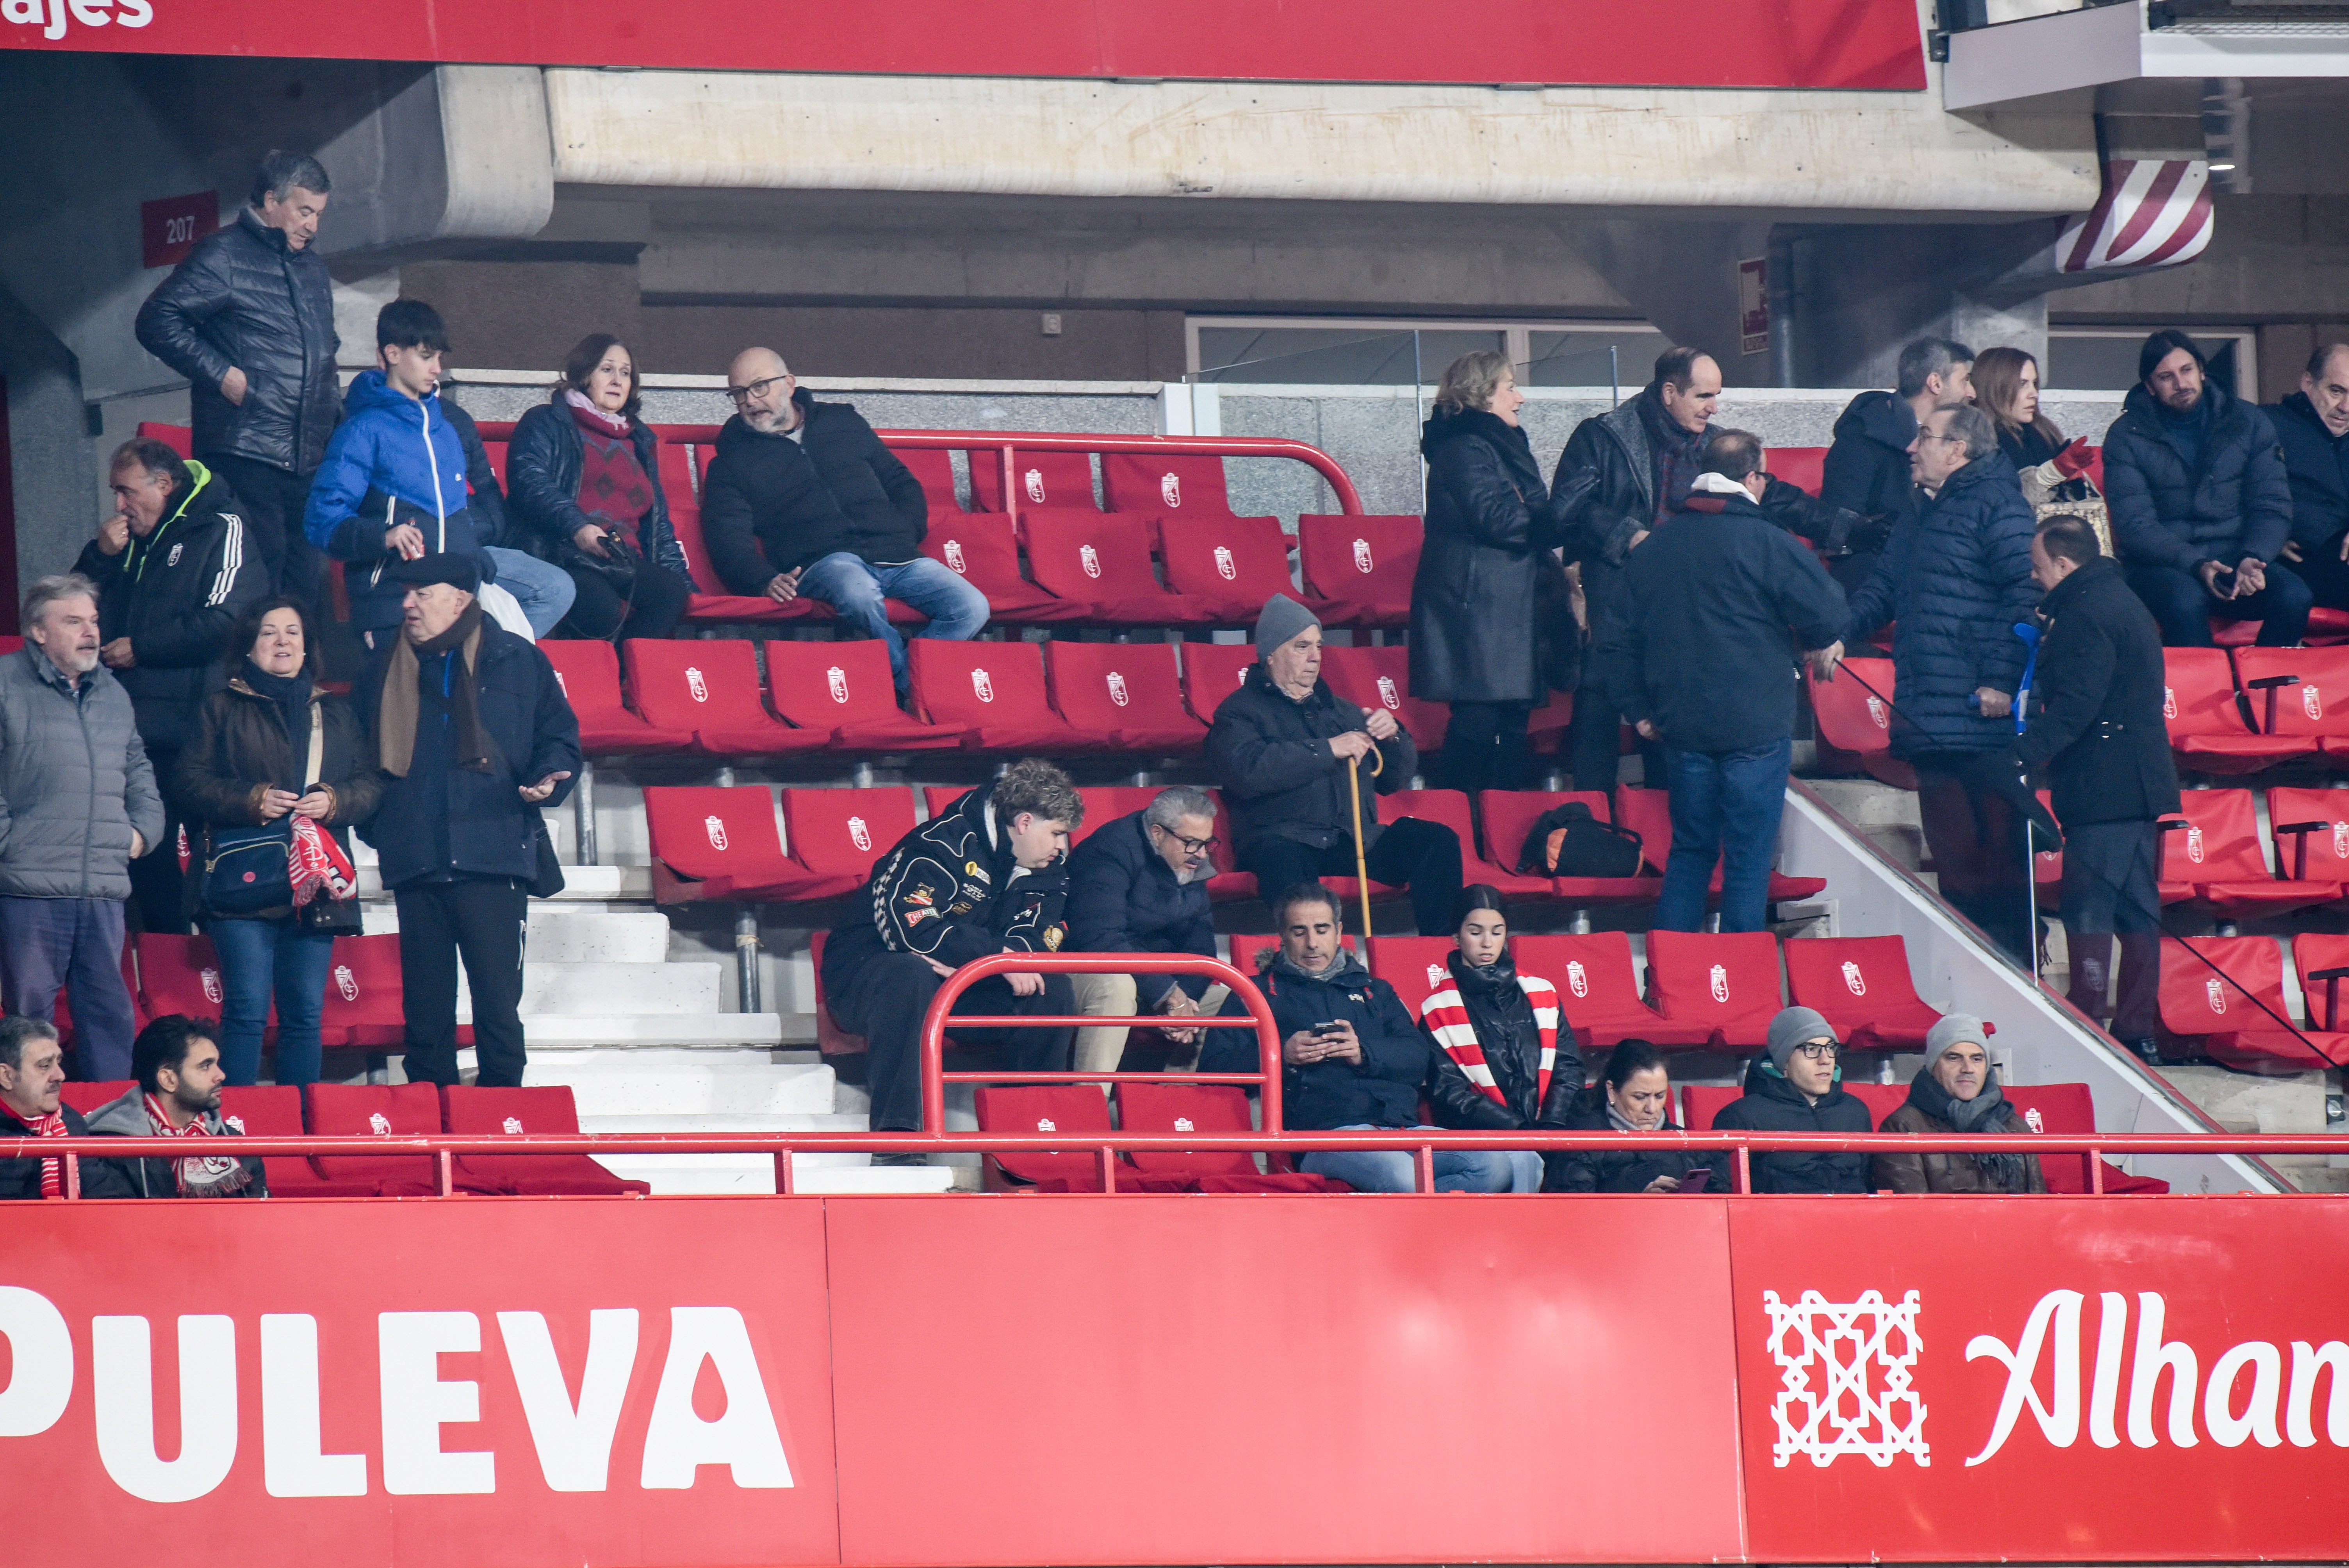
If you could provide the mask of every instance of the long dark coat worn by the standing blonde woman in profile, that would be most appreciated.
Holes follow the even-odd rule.
[[[1412,577],[1412,695],[1428,702],[1532,702],[1550,695],[1567,575],[1562,530],[1525,430],[1466,408],[1435,413],[1428,535]],[[1548,615],[1543,615],[1548,610]]]

